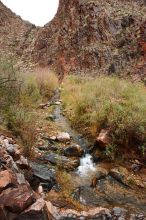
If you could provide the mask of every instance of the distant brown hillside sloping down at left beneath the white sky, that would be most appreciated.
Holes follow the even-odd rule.
[[[22,57],[34,39],[37,28],[23,21],[0,1],[0,54]]]

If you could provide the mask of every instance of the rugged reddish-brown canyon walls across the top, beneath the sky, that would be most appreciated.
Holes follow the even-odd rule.
[[[2,4],[0,10],[6,11]],[[141,44],[145,0],[60,0],[55,18],[43,28],[23,22],[9,10],[0,20],[1,48],[14,50],[23,60],[51,66],[60,75],[145,77]]]

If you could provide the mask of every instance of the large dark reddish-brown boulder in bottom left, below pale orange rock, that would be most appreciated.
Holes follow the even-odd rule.
[[[35,201],[33,192],[27,185],[19,185],[17,188],[4,190],[0,195],[0,205],[5,206],[14,213],[22,212]]]

